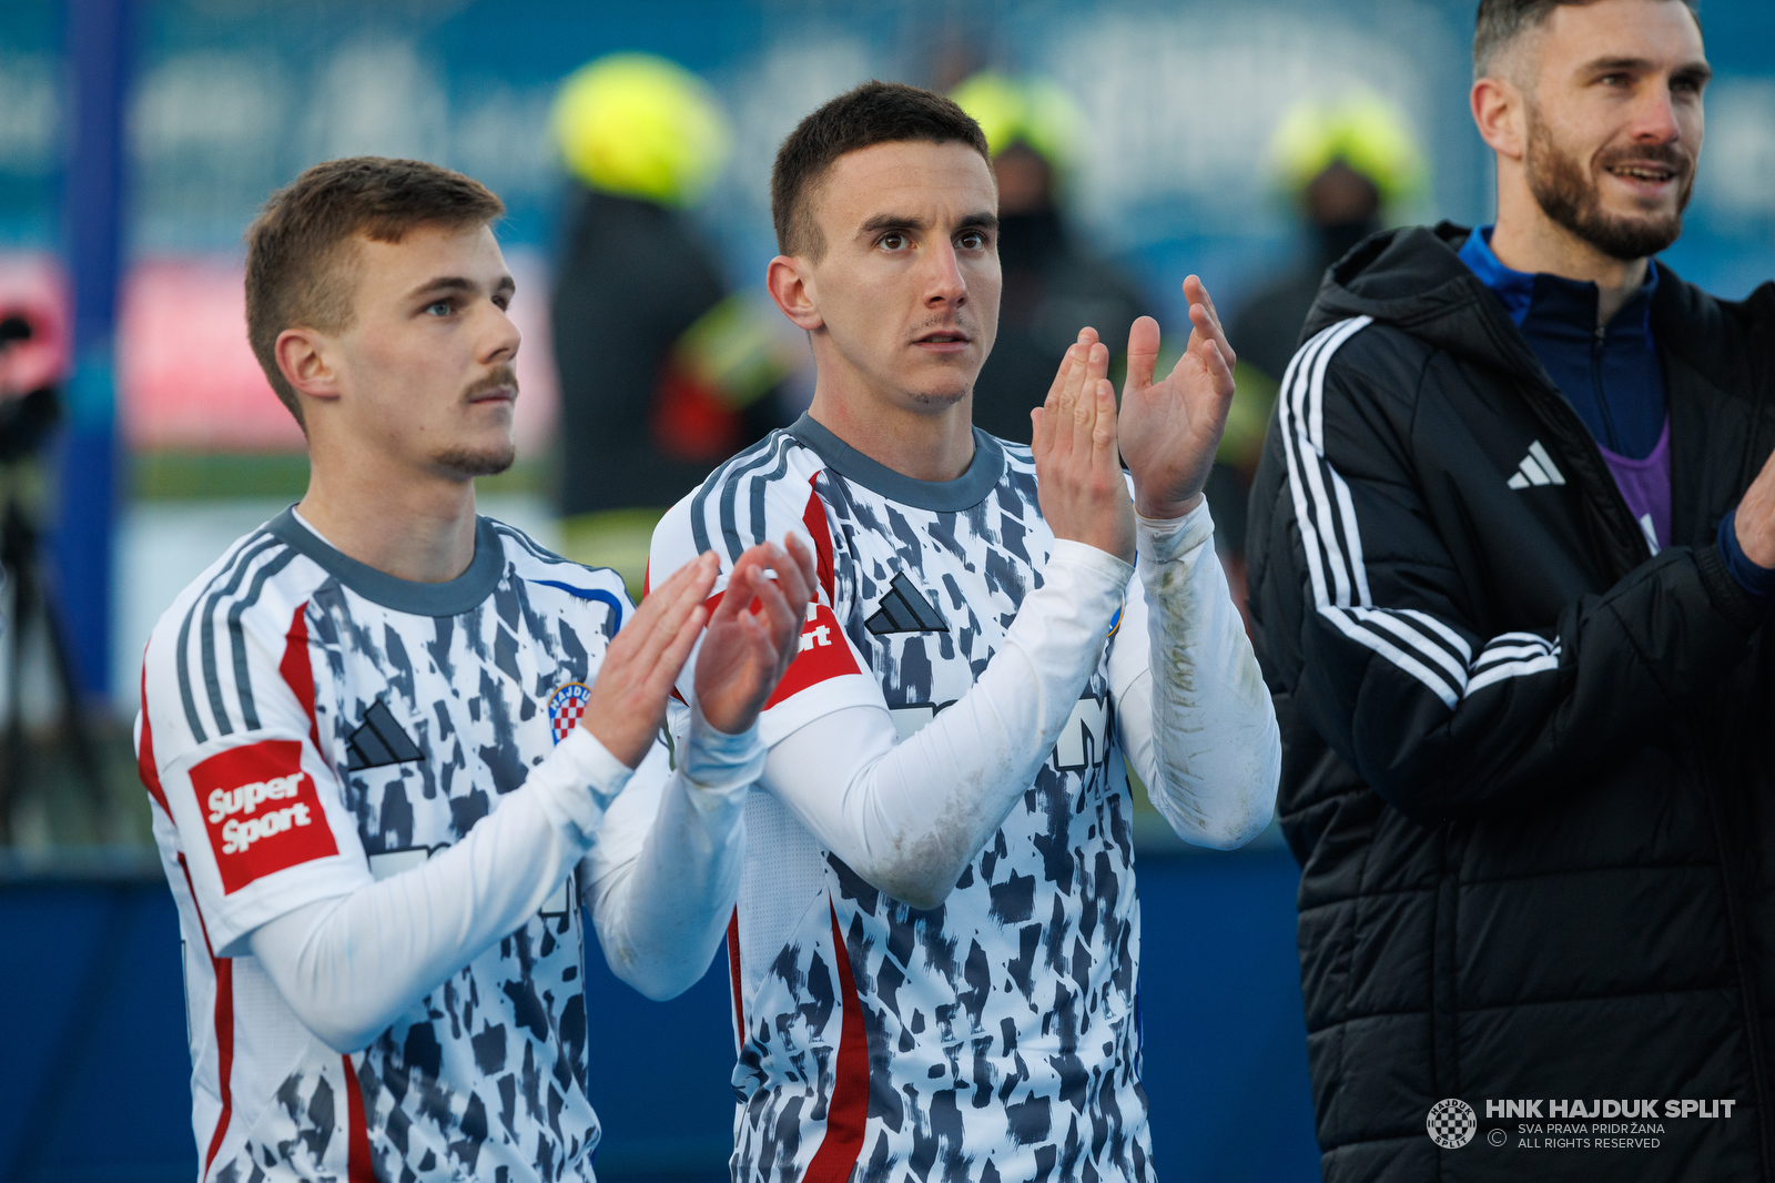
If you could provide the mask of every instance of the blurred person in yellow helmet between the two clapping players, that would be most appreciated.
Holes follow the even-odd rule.
[[[786,423],[774,394],[793,362],[687,215],[728,156],[694,75],[598,59],[563,83],[554,133],[575,181],[552,306],[563,549],[639,588],[666,506]]]

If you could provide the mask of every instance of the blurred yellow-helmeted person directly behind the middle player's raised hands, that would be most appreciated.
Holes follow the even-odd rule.
[[[998,345],[974,380],[974,426],[1022,442],[1079,325],[1100,325],[1120,375],[1127,325],[1147,311],[1134,284],[1090,250],[1060,210],[1085,117],[1045,78],[978,73],[951,98],[985,131],[999,188],[1005,288]]]

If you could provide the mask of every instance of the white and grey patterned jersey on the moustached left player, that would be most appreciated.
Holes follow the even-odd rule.
[[[593,1178],[572,881],[353,1055],[302,1025],[247,936],[462,840],[572,726],[628,609],[612,572],[485,517],[469,570],[419,584],[286,510],[160,618],[137,748],[206,1183]]]

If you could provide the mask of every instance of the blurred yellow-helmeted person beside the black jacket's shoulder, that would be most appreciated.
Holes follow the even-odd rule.
[[[1219,528],[1221,561],[1241,606],[1246,501],[1276,389],[1301,343],[1306,313],[1326,268],[1379,231],[1384,213],[1424,187],[1422,155],[1404,115],[1369,92],[1337,101],[1301,99],[1276,124],[1269,156],[1305,234],[1298,258],[1258,284],[1227,325],[1239,350],[1239,394],[1209,478],[1209,504]]]

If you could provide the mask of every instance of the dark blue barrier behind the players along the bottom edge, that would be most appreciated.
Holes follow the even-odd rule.
[[[1161,1178],[1319,1178],[1287,851],[1143,858],[1147,1096]],[[151,856],[106,851],[0,861],[0,933],[55,949],[0,975],[18,1021],[0,1075],[0,1178],[190,1183],[190,1059],[179,933]],[[726,952],[689,993],[648,1002],[588,957],[605,1037],[588,1092],[604,1123],[598,1178],[719,1183],[731,1146]],[[204,1021],[195,1016],[190,1021]],[[103,1137],[92,1137],[103,1128]]]

